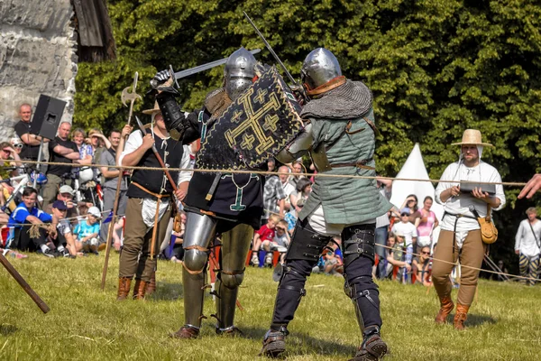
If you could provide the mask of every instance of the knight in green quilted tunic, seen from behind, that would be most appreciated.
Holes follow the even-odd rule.
[[[309,124],[278,160],[291,162],[309,151],[319,173],[375,177],[377,128],[371,90],[360,81],[345,79],[335,55],[323,48],[307,55],[301,79],[310,99],[301,116]],[[261,355],[279,356],[285,351],[289,322],[307,293],[307,276],[338,235],[344,255],[344,291],[353,301],[363,338],[352,360],[378,360],[386,354],[387,345],[380,337],[379,291],[371,269],[376,218],[390,208],[376,180],[316,177],[298,215]]]

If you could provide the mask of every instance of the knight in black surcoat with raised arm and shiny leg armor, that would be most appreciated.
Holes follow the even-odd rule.
[[[256,78],[256,60],[241,48],[225,63],[224,85],[206,96],[199,111],[184,117],[175,100],[174,89],[167,87],[167,70],[160,71],[154,83],[158,103],[171,134],[179,132],[186,138],[197,130],[204,143],[215,121]],[[220,154],[215,154],[218,157]],[[200,167],[196,162],[196,169]],[[224,168],[227,168],[227,164]],[[244,262],[250,248],[254,229],[261,226],[263,211],[262,179],[257,174],[194,172],[185,199],[187,212],[184,234],[184,326],[171,334],[173,338],[197,338],[203,315],[206,267],[209,245],[221,234],[219,269],[216,271],[215,299],[216,333],[237,335],[234,327],[235,302],[243,282]]]

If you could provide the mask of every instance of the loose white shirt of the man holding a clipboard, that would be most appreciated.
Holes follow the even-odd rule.
[[[456,197],[450,197],[446,202],[443,202],[440,196],[444,190],[458,186],[461,180],[501,182],[500,173],[496,168],[482,161],[480,161],[479,165],[471,168],[466,167],[462,163],[459,165],[459,162],[454,162],[447,166],[440,180],[456,180],[455,183],[440,182],[436,187],[436,202],[442,204],[445,212],[449,213],[440,222],[440,227],[447,231],[453,231],[455,217],[452,215],[460,214],[472,218],[459,218],[456,224],[457,232],[467,233],[474,229],[480,229],[479,222],[470,211],[470,206],[473,206],[477,210],[480,217],[485,217],[487,215],[487,203],[485,201],[476,199],[472,194],[468,193],[460,193]],[[500,207],[493,208],[493,210],[500,210],[505,206],[505,194],[503,193],[501,184],[496,185],[495,197],[500,199]],[[462,243],[459,246],[462,246]]]

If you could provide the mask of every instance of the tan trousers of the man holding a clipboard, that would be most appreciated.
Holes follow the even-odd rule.
[[[461,250],[455,244],[453,253],[453,238],[453,231],[442,230],[440,232],[436,253],[434,254],[434,264],[432,266],[432,281],[440,299],[445,296],[451,296],[452,285],[449,274],[453,271],[456,260],[460,259],[462,267],[457,301],[464,306],[470,306],[473,296],[475,296],[479,271],[469,267],[481,268],[486,245],[481,240],[481,231],[477,229],[468,232]],[[453,264],[437,260],[443,260]]]

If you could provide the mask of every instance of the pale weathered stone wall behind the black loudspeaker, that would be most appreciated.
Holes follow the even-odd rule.
[[[68,102],[73,116],[77,43],[70,0],[0,0],[0,141],[11,137],[22,103],[40,94]]]

